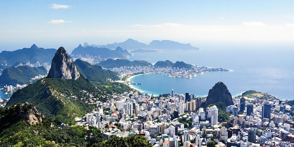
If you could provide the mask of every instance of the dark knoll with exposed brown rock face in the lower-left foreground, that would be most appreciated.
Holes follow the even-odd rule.
[[[41,124],[44,115],[29,103],[17,104],[0,110],[0,132],[23,120],[28,125]]]

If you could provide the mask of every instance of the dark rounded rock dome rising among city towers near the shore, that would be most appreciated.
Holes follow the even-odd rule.
[[[204,108],[218,102],[223,103],[225,106],[234,105],[232,95],[223,82],[216,83],[212,89],[209,90],[206,101],[201,104],[201,107]]]

